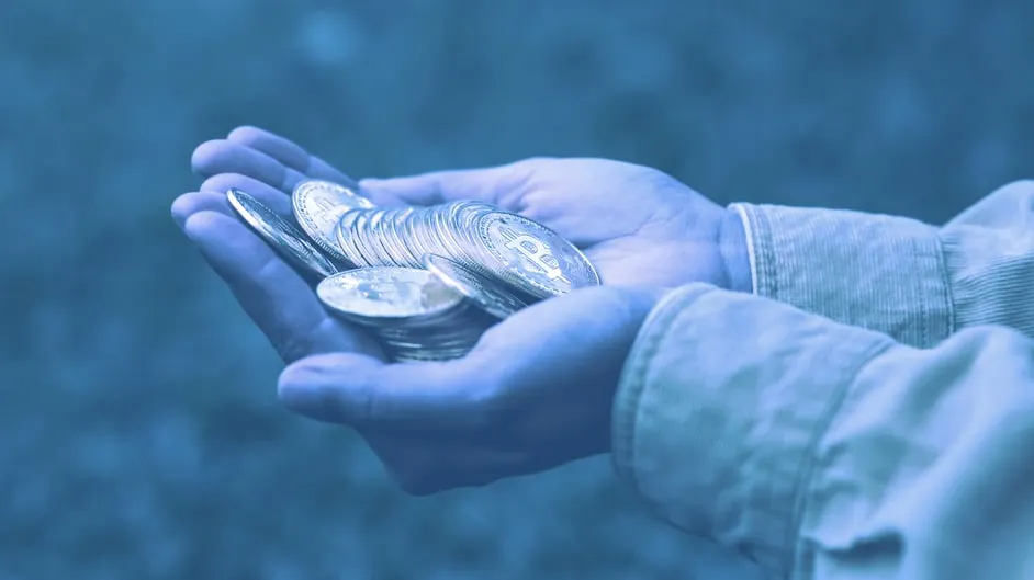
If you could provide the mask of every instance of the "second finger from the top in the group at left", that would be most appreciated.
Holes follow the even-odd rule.
[[[297,182],[305,179],[301,172],[263,152],[225,139],[199,145],[190,162],[194,171],[205,178],[218,173],[239,173],[288,194]]]

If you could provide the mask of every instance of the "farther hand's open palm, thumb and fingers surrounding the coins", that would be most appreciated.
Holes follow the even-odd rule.
[[[307,178],[350,182],[290,140],[255,127],[207,141],[192,158],[207,178],[172,215],[226,281],[286,362],[336,351],[376,353],[361,333],[329,317],[308,284],[236,219],[226,198],[239,187],[290,214],[290,192]],[[723,209],[673,178],[600,159],[529,159],[480,170],[364,180],[383,205],[482,200],[535,219],[577,244],[607,285],[674,287],[719,282],[716,238]]]

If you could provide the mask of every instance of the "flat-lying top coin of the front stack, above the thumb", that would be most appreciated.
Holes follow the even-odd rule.
[[[328,308],[366,320],[432,316],[463,298],[426,270],[384,266],[335,274],[316,295]]]

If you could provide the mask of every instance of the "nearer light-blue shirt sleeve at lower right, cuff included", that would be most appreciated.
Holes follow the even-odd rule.
[[[652,311],[614,414],[619,475],[772,578],[1034,578],[1034,341],[920,350],[689,285]]]

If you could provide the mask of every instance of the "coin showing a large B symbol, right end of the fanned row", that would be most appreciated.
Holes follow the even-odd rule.
[[[476,242],[490,270],[524,292],[549,298],[598,286],[599,274],[573,243],[524,216],[490,212],[476,218]]]

